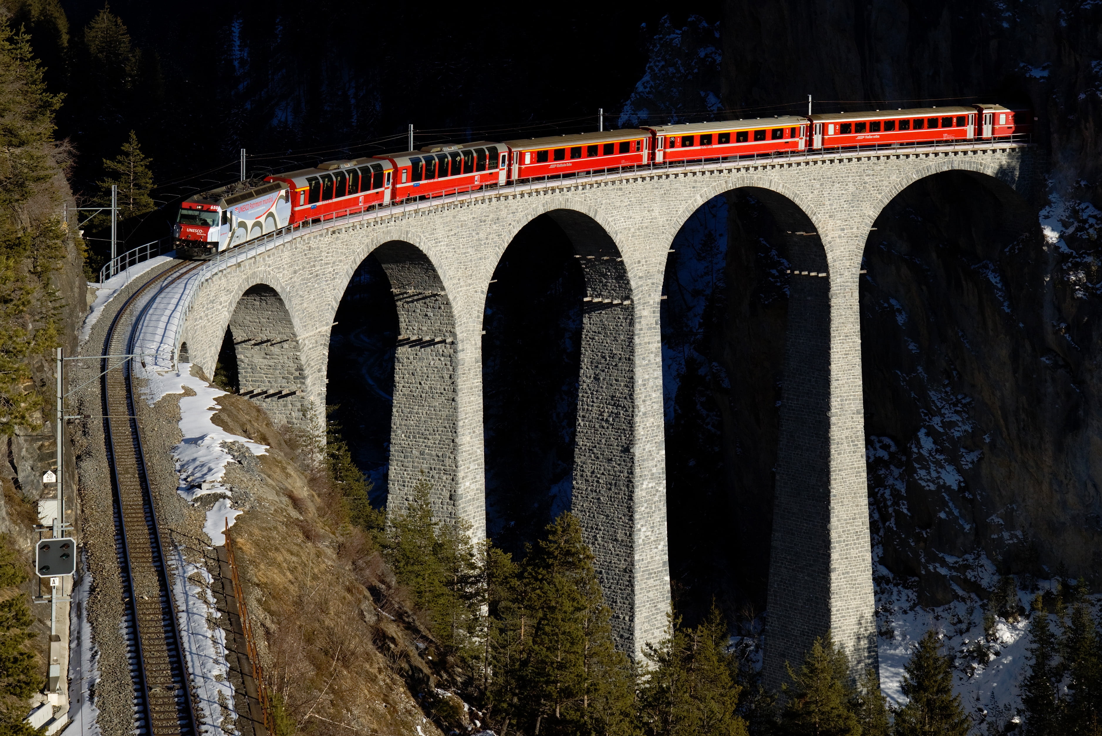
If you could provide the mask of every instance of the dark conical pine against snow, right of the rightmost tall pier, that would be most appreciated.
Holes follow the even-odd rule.
[[[941,654],[941,640],[927,631],[907,662],[903,694],[910,699],[896,713],[896,736],[968,736],[972,721],[953,695],[952,659]]]

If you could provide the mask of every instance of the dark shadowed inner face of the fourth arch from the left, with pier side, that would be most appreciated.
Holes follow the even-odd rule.
[[[768,237],[790,271],[780,274],[787,281],[787,314],[782,317],[782,347],[775,348],[773,358],[779,361],[781,388],[779,407],[774,410],[777,413],[769,420],[776,422],[773,426],[777,439],[765,585],[769,631],[764,675],[770,686],[779,686],[784,663],[802,661],[814,638],[839,624],[832,608],[836,598],[832,589],[836,531],[831,517],[835,506],[831,477],[835,346],[831,342],[830,243],[821,235],[823,217],[803,193],[775,178],[758,176],[723,177],[704,187],[681,208],[673,226],[682,227],[696,208],[720,195],[727,195],[732,207],[736,197],[749,195],[768,212],[773,220],[768,229],[745,232],[744,237],[752,241],[763,235]],[[731,219],[734,238],[741,225]],[[668,236],[671,243],[676,231]],[[728,309],[736,299],[730,297]],[[765,354],[755,351],[755,356]],[[748,387],[737,386],[732,379],[730,388],[738,393]],[[764,411],[768,410],[757,412],[758,421],[766,421]],[[759,512],[769,515],[770,510],[761,508]]]

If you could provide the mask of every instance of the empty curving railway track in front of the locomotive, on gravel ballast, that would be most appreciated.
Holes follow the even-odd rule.
[[[104,355],[133,351],[133,326],[143,312],[142,297],[183,278],[201,264],[180,263],[150,279],[119,309]],[[158,286],[156,284],[161,284]],[[145,304],[152,299],[145,301]],[[136,398],[127,360],[100,378],[104,434],[115,497],[115,545],[122,577],[128,659],[133,678],[134,730],[152,736],[199,736],[191,680],[177,630],[169,570],[150,493],[145,458],[136,419]]]

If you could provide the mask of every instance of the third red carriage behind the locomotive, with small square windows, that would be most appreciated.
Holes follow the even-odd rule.
[[[509,177],[531,178],[645,164],[650,161],[650,139],[648,131],[628,128],[506,141],[511,156]]]

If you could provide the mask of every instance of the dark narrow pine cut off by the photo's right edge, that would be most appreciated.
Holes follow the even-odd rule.
[[[1063,632],[1069,683],[1062,725],[1069,735],[1102,736],[1102,657],[1087,595],[1087,583],[1080,578],[1072,589],[1071,616]]]

